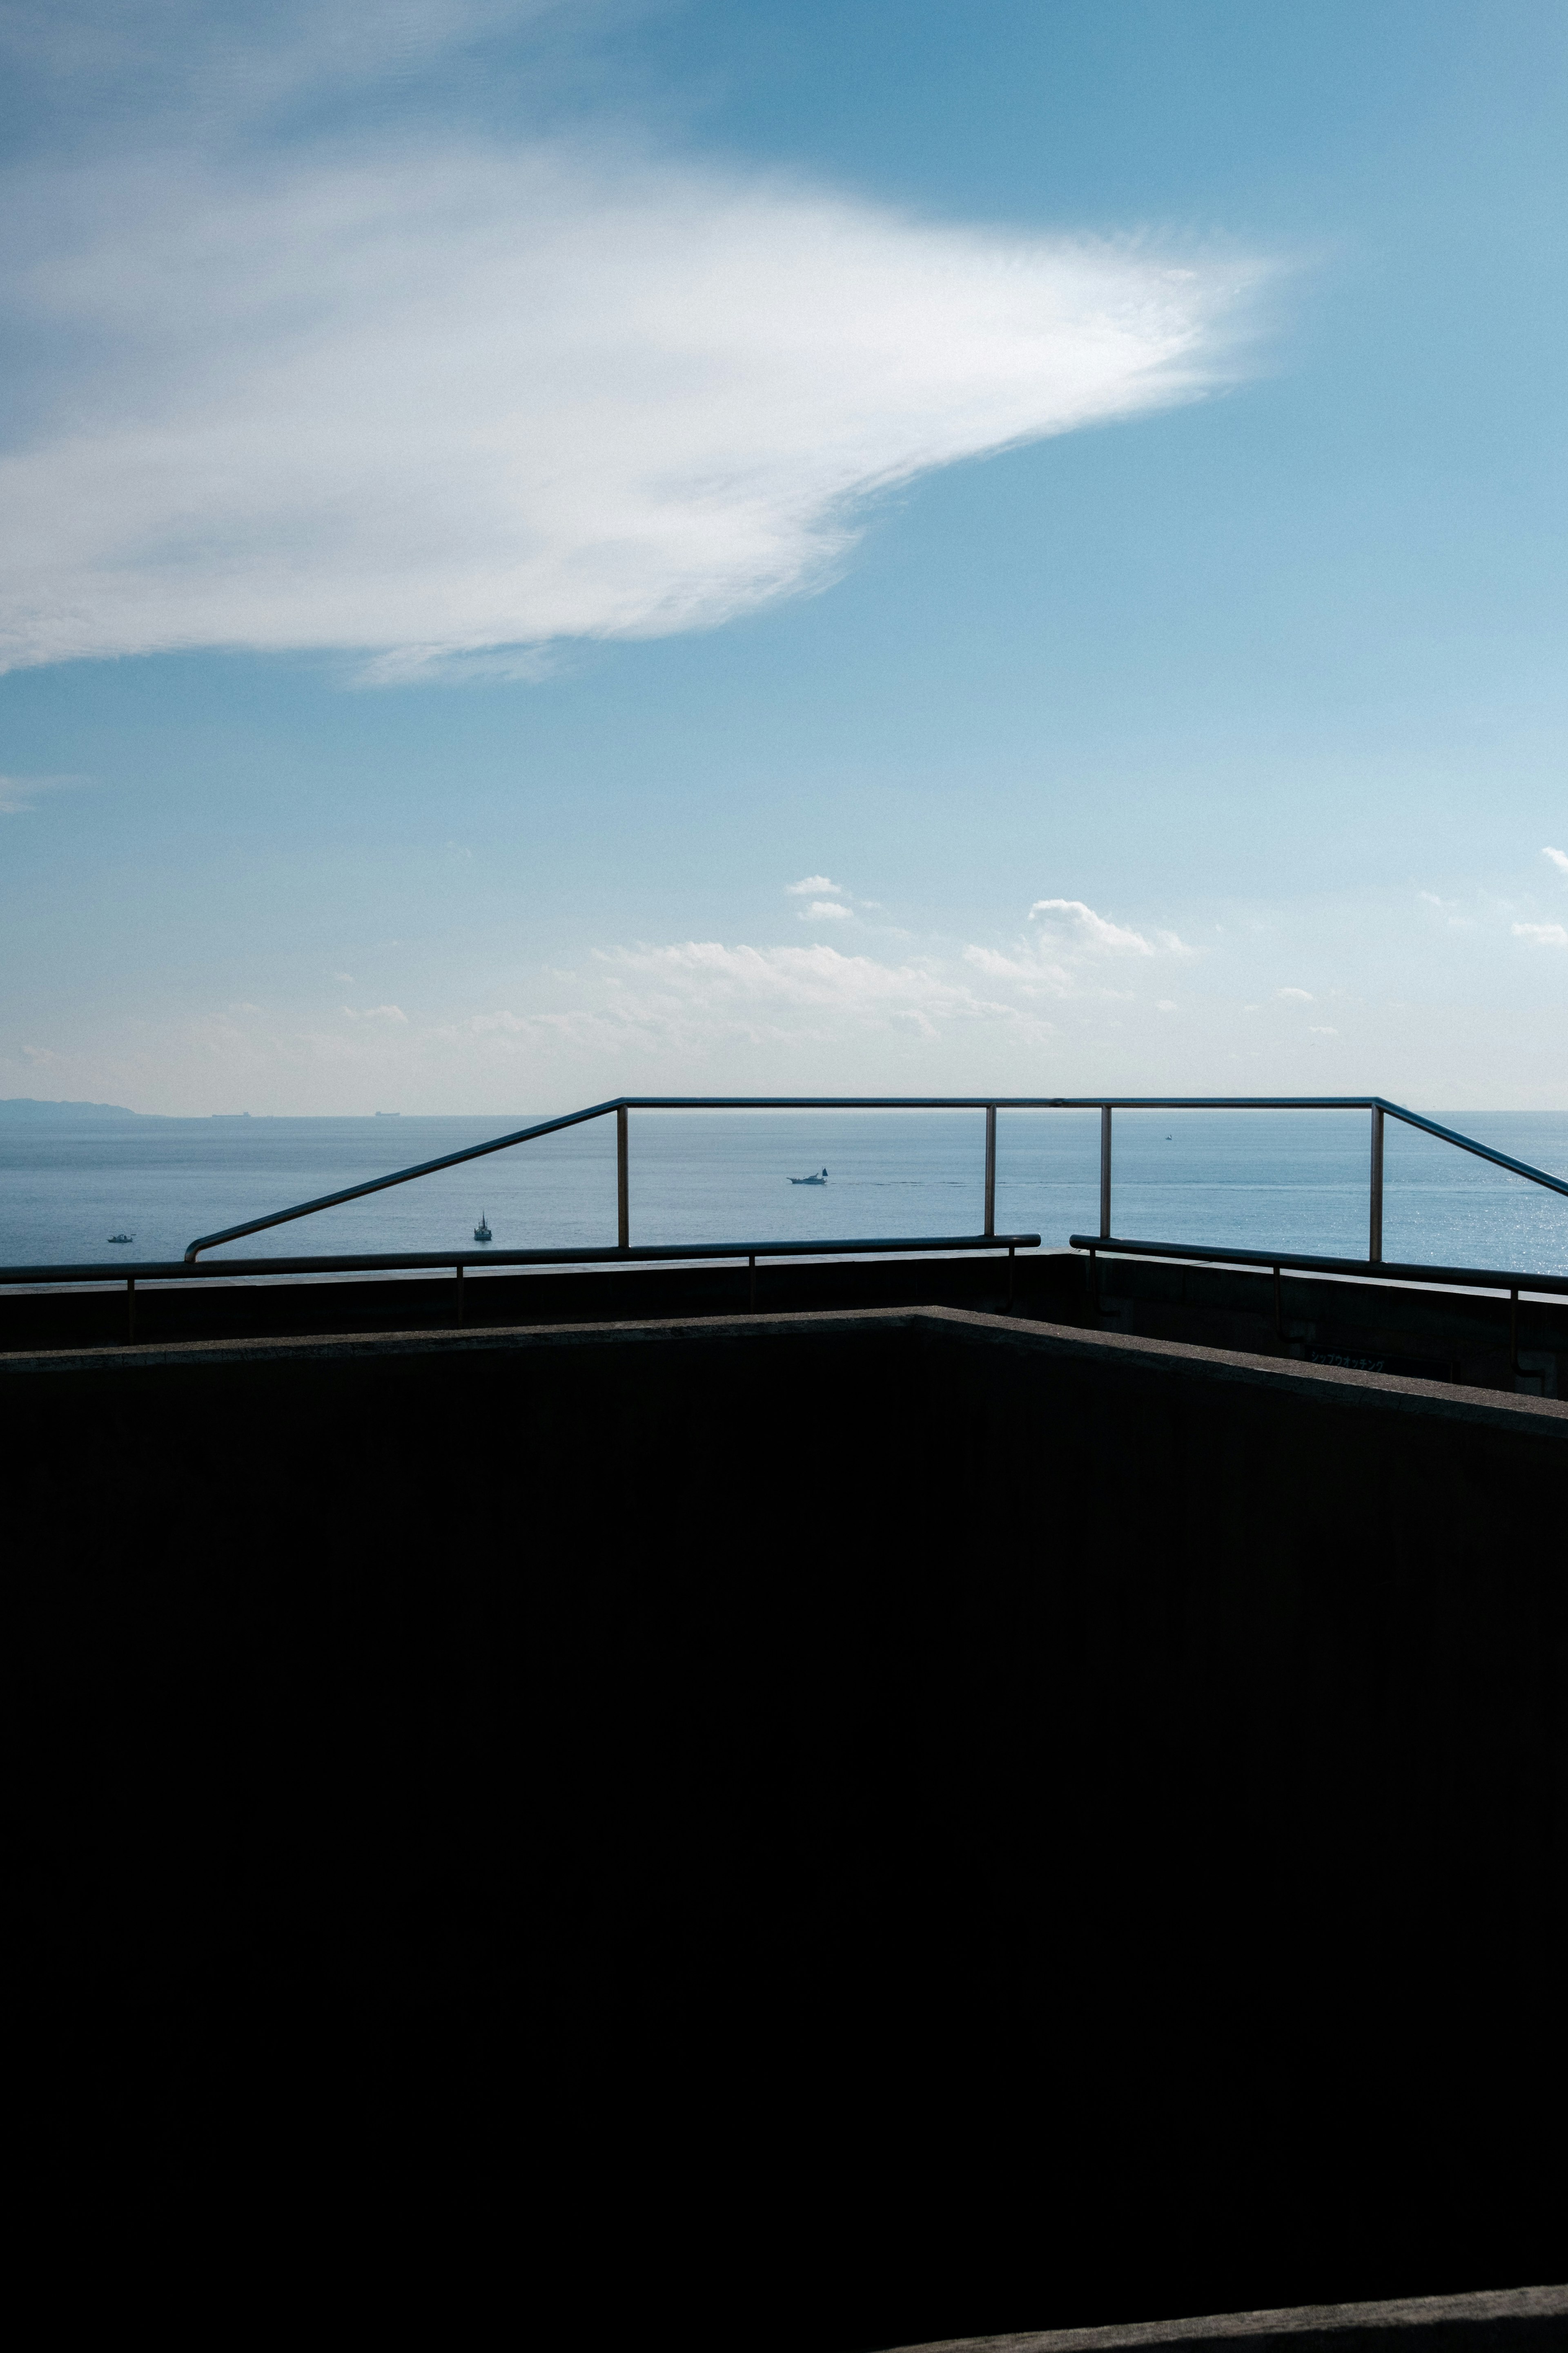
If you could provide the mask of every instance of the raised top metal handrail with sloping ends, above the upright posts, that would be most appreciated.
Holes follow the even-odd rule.
[[[414,1176],[433,1176],[437,1169],[461,1167],[465,1160],[482,1160],[487,1153],[503,1153],[512,1144],[531,1144],[534,1136],[555,1136],[564,1127],[583,1127],[623,1111],[1385,1111],[1408,1127],[1420,1127],[1443,1144],[1455,1144],[1465,1153],[1493,1160],[1544,1184],[1554,1193],[1568,1195],[1568,1181],[1535,1169],[1528,1160],[1476,1144],[1453,1127],[1385,1101],[1380,1094],[616,1094],[604,1104],[588,1104],[583,1111],[567,1111],[555,1120],[536,1120],[531,1127],[515,1127],[505,1136],[489,1136],[484,1144],[465,1144],[463,1151],[442,1153],[437,1160],[418,1160],[407,1169],[390,1169],[364,1184],[343,1186],[339,1193],[320,1193],[301,1200],[292,1209],[273,1209],[268,1217],[252,1217],[242,1226],[223,1226],[221,1233],[202,1233],[186,1247],[186,1259],[221,1242],[240,1242],[247,1233],[266,1233],[270,1226],[287,1226],[296,1217],[313,1217],[317,1209],[336,1209],[346,1200],[364,1200],[367,1193],[383,1193],[388,1186],[409,1184]],[[440,1264],[451,1264],[444,1259]]]

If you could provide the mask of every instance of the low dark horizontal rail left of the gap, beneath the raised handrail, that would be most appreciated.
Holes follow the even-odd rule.
[[[1039,1249],[1037,1233],[886,1235],[851,1242],[632,1242],[625,1249],[383,1249],[331,1259],[113,1259],[101,1266],[0,1266],[0,1282],[221,1282],[242,1275],[350,1275],[421,1266],[646,1266],[686,1259],[929,1257],[961,1249]]]

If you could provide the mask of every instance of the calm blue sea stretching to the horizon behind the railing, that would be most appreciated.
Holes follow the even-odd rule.
[[[482,1120],[127,1120],[0,1113],[0,1261],[176,1259],[197,1233],[527,1125]],[[1568,1113],[1443,1125],[1568,1176]],[[632,1113],[632,1242],[978,1233],[985,1122],[971,1111]],[[1368,1115],[1117,1113],[1114,1231],[1164,1242],[1366,1252]],[[827,1167],[820,1188],[790,1176]],[[616,1240],[614,1122],[567,1129],[228,1257]],[[999,1115],[997,1226],[1063,1245],[1098,1226],[1098,1113]],[[1385,1257],[1568,1273],[1568,1200],[1387,1122]]]

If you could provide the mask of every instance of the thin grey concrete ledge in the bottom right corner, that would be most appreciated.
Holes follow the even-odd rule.
[[[1568,2287],[1502,2287],[1472,2297],[1399,2297],[1392,2304],[1295,2304],[1276,2313],[1135,2320],[1025,2337],[945,2337],[898,2353],[1119,2353],[1124,2346],[1279,2346],[1279,2353],[1481,2353],[1490,2346],[1568,2344]]]

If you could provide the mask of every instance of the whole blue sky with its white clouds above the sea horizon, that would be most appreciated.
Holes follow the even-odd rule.
[[[1556,5],[5,7],[0,1094],[1568,1106]]]

